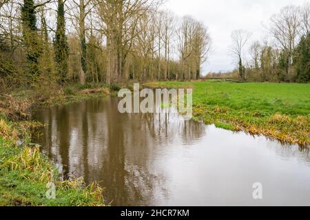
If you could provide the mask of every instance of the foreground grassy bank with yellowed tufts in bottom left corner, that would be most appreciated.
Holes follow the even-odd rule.
[[[63,181],[56,167],[30,144],[31,122],[0,119],[0,206],[103,206],[103,189],[83,179]],[[23,142],[19,135],[22,135]],[[55,199],[47,184],[56,188]]]

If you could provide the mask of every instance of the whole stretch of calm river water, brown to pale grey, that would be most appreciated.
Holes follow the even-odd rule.
[[[309,150],[117,106],[108,97],[33,112],[47,124],[34,142],[66,176],[100,181],[105,203],[310,206]]]

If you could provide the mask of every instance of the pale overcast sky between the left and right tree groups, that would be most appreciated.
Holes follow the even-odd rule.
[[[234,69],[236,64],[229,55],[231,32],[245,29],[252,32],[251,41],[263,39],[270,17],[286,5],[302,5],[305,0],[167,0],[165,7],[178,17],[191,15],[203,21],[209,28],[214,52],[203,72],[218,72]]]

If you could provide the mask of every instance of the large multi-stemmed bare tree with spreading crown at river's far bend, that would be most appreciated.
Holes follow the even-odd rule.
[[[107,83],[117,83],[126,77],[124,66],[132,50],[138,21],[149,10],[156,10],[158,0],[105,0],[98,1],[99,16],[105,23],[107,41]]]

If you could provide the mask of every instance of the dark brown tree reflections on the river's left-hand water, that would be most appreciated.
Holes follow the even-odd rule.
[[[34,112],[47,124],[42,151],[65,175],[100,181],[113,205],[152,205],[167,196],[161,155],[179,143],[191,146],[205,126],[172,113],[121,114],[118,98],[98,98]]]

